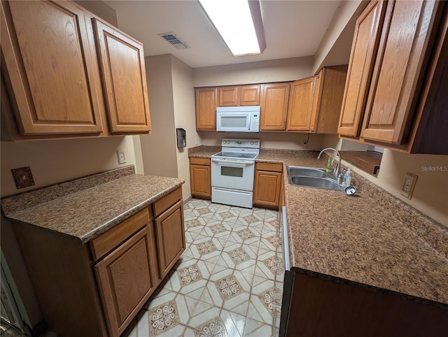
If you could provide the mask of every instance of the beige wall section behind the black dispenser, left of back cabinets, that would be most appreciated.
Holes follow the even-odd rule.
[[[145,61],[153,133],[140,136],[144,172],[185,180],[183,199],[188,199],[191,195],[188,148],[201,143],[196,131],[193,69],[173,55],[146,57]],[[177,148],[178,127],[186,130],[186,148]]]

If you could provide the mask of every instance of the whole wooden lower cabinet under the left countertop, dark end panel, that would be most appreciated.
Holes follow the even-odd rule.
[[[14,224],[48,327],[118,337],[185,250],[181,187],[89,243]]]

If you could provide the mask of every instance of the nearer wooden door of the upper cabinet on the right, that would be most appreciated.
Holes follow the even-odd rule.
[[[389,1],[379,41],[361,138],[400,145],[407,141],[438,3]]]

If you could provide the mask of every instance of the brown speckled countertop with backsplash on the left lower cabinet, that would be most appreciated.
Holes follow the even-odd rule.
[[[9,219],[87,243],[183,183],[134,174],[131,165],[6,197],[1,208]]]

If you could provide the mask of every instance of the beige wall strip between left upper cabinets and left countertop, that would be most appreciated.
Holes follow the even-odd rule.
[[[116,150],[125,150],[118,164]],[[120,166],[135,165],[132,136],[57,141],[1,142],[1,196],[26,192]],[[29,166],[35,185],[17,189],[11,169]]]

